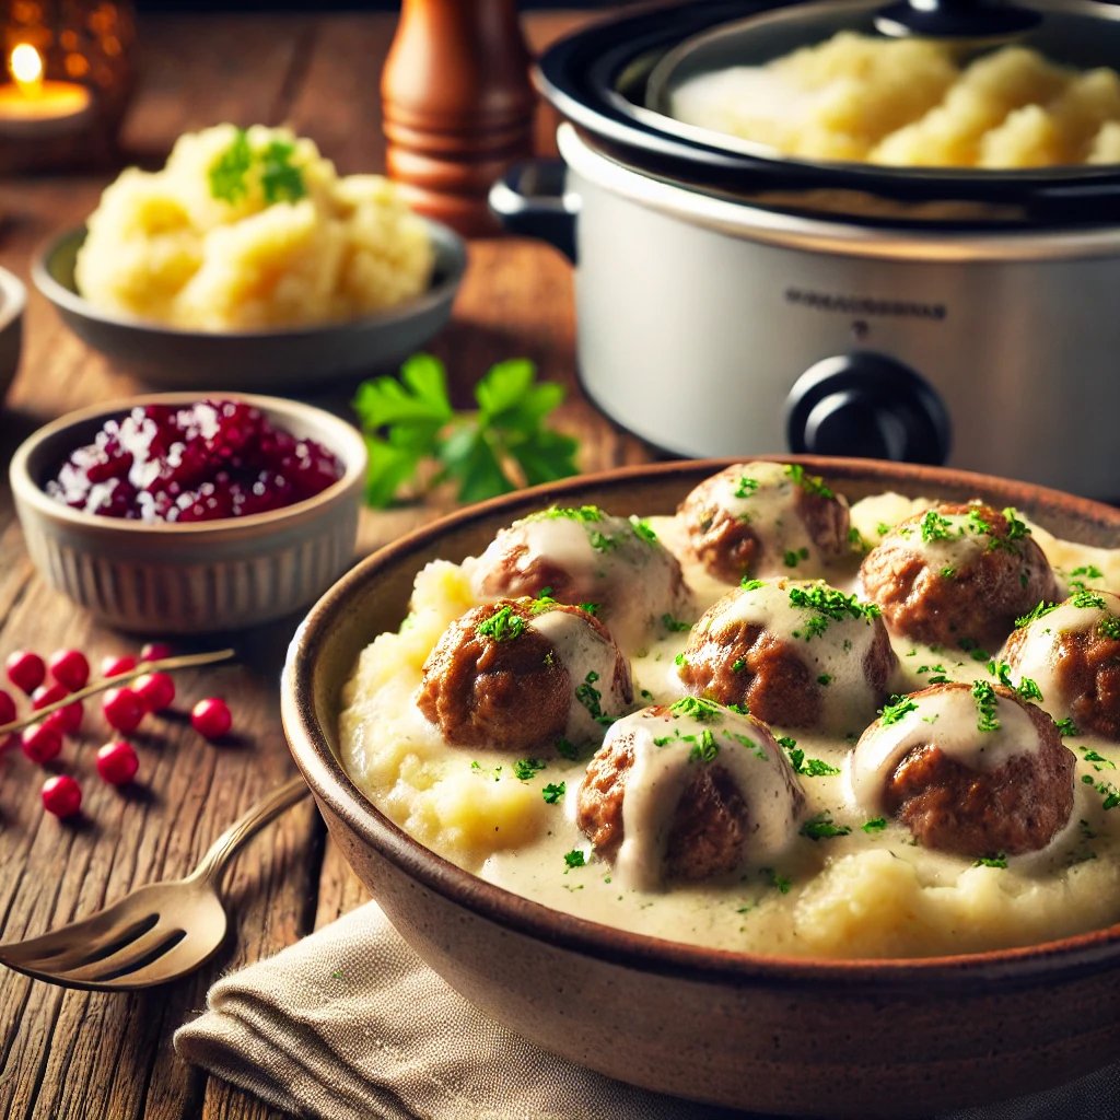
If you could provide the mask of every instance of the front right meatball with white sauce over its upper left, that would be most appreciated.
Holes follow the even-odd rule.
[[[884,709],[851,754],[851,796],[926,848],[1038,851],[1068,823],[1076,759],[1054,721],[1002,684],[935,684]]]

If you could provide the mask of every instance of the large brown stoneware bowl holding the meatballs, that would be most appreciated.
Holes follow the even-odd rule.
[[[858,459],[796,459],[852,500],[1014,505],[1052,532],[1120,545],[1120,511],[1037,486]],[[609,928],[517,897],[433,855],[337,758],[339,689],[395,629],[412,578],[478,554],[551,502],[671,513],[734,460],[570,479],[464,510],[370,557],[311,609],[288,654],[284,729],[335,840],[412,948],[517,1034],[623,1081],[716,1104],[820,1117],[930,1116],[1057,1084],[1120,1057],[1120,926],[967,956],[754,956]]]

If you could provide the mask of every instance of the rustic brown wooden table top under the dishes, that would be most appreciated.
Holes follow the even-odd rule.
[[[534,47],[586,18],[529,17]],[[128,158],[158,166],[180,133],[218,121],[291,123],[314,137],[342,172],[380,170],[377,75],[392,37],[390,16],[162,17],[141,24],[143,75],[125,122]],[[541,143],[549,121],[542,119]],[[81,222],[105,178],[0,181],[0,264],[27,279],[35,246]],[[581,466],[603,469],[647,458],[581,398],[575,381],[571,270],[528,241],[473,243],[454,324],[433,344],[463,403],[495,361],[534,358],[564,383],[558,426],[582,444]],[[6,463],[18,442],[53,417],[138,386],[87,349],[32,292],[24,362],[0,424]],[[361,552],[429,510],[367,514]],[[96,665],[137,642],[106,631],[38,578],[4,485],[0,488],[0,657],[17,648],[85,650]],[[202,741],[183,718],[149,719],[137,736],[142,782],[120,793],[100,782],[93,755],[109,729],[87,704],[81,740],[65,767],[80,776],[78,824],[44,814],[43,772],[18,750],[0,756],[0,940],[41,933],[111,903],[143,883],[186,872],[240,813],[293,771],[280,727],[278,676],[296,620],[243,636],[243,662],[180,674],[180,710],[208,694],[232,702],[239,745]],[[204,646],[198,646],[204,647]],[[363,902],[315,809],[301,804],[256,839],[228,880],[233,936],[207,969],[139,995],[65,991],[0,969],[0,1116],[74,1120],[171,1120],[273,1116],[259,1101],[179,1062],[177,1026],[204,1005],[214,978],[276,953]]]

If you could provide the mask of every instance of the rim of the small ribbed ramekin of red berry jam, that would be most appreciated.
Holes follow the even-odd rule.
[[[344,470],[339,478],[332,483],[326,489],[320,491],[311,497],[295,502],[291,505],[282,506],[279,510],[269,510],[264,513],[252,513],[245,517],[220,517],[214,521],[192,521],[186,524],[166,521],[128,521],[123,517],[100,517],[84,510],[74,510],[68,505],[54,501],[46,491],[31,477],[28,469],[28,461],[31,455],[48,439],[65,432],[69,428],[88,423],[102,417],[124,416],[131,409],[140,404],[193,404],[203,400],[230,400],[241,401],[252,404],[261,411],[279,414],[282,418],[295,419],[300,416],[314,417],[316,422],[321,422],[337,432],[339,445],[327,448],[336,458],[343,463]],[[282,420],[281,420],[282,423]],[[62,522],[85,530],[95,530],[99,533],[168,533],[180,538],[205,538],[228,535],[231,530],[253,530],[258,528],[276,526],[278,523],[298,520],[320,507],[334,504],[344,497],[362,479],[365,478],[367,467],[367,452],[365,440],[361,432],[340,417],[336,417],[326,409],[316,408],[314,404],[305,404],[302,401],[292,401],[282,396],[262,396],[259,393],[226,392],[206,393],[189,392],[178,390],[167,393],[141,393],[133,396],[124,396],[118,401],[91,404],[84,409],[76,409],[67,412],[57,420],[52,420],[34,431],[22,444],[16,448],[11,457],[9,467],[9,479],[15,495],[37,514],[50,521]]]

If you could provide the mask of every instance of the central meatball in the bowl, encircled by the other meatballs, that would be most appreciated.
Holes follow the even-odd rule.
[[[752,580],[692,628],[679,673],[767,724],[842,735],[875,718],[897,663],[877,607],[823,582]]]

